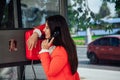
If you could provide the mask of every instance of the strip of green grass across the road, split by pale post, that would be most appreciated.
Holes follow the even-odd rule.
[[[92,40],[95,40],[99,37],[102,36],[92,36]],[[76,45],[85,45],[86,42],[86,36],[77,36],[77,37],[72,37]]]

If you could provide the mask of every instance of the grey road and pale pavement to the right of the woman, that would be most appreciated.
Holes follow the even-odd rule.
[[[86,56],[86,47],[77,47],[81,80],[120,80],[120,63],[101,61],[93,65]]]

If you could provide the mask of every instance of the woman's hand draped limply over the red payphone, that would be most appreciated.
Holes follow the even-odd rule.
[[[27,45],[28,45],[28,49],[32,50],[33,47],[36,47],[37,44],[37,40],[38,40],[38,34],[36,32],[34,32],[30,38],[27,40]]]

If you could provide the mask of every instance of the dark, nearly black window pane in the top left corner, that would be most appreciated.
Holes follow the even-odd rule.
[[[14,27],[13,0],[0,0],[0,29]]]

